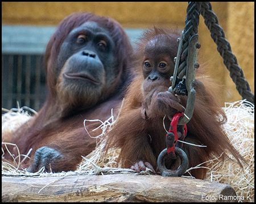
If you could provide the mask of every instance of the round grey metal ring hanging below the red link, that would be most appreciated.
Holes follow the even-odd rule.
[[[158,168],[162,174],[162,176],[172,176],[172,177],[180,177],[182,175],[184,175],[185,171],[187,171],[188,169],[188,157],[187,154],[185,154],[185,152],[179,148],[179,147],[175,147],[175,154],[177,156],[179,156],[180,160],[181,160],[181,164],[180,167],[177,170],[171,170],[171,169],[167,169],[166,165],[164,164],[164,159],[167,156],[167,148],[165,148],[158,156]]]

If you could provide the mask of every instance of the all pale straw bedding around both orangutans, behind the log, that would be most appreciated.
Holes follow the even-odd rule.
[[[228,117],[228,122],[224,125],[224,131],[228,135],[234,147],[236,147],[249,165],[241,169],[236,162],[232,162],[230,160],[226,160],[224,162],[221,162],[218,158],[210,160],[208,161],[209,171],[206,180],[228,184],[232,186],[234,190],[236,190],[237,196],[244,196],[246,198],[247,195],[250,195],[251,201],[254,202],[254,105],[247,101],[241,100],[234,103],[226,103],[224,111]],[[7,131],[5,128],[3,130],[3,127],[8,127],[8,131],[14,131],[17,126],[21,125],[22,122],[18,120],[18,117],[22,118],[22,114],[26,114],[26,112],[12,112],[11,114],[13,116],[11,116],[9,120],[11,123],[17,122],[17,124],[5,126],[5,124],[3,124],[3,117],[5,117],[4,123],[10,121],[6,120],[7,117],[4,114],[2,116],[2,134],[3,131]],[[15,120],[12,120],[14,119],[12,117],[16,117]],[[27,116],[24,116],[24,118],[25,117],[26,119],[24,121],[27,120]],[[28,116],[28,118],[29,117],[30,116]],[[98,120],[85,120],[85,129],[86,122],[94,121]],[[108,151],[106,155],[102,154],[107,137],[106,130],[111,128],[113,123],[113,116],[105,122],[102,122],[102,125],[99,127],[102,129],[102,134],[97,136],[98,143],[96,149],[82,160],[75,172],[43,173],[44,169],[40,169],[39,172],[28,173],[26,172],[26,169],[20,171],[10,164],[2,162],[2,176],[67,176],[84,174],[104,175],[106,173],[133,173],[134,171],[131,169],[118,168],[117,159],[119,156],[119,150],[112,149]],[[3,145],[5,145],[5,143],[2,142],[2,146]],[[229,154],[229,152],[226,153]],[[2,158],[3,156],[4,155],[2,155]],[[232,155],[230,155],[230,158],[232,158]],[[15,161],[20,162],[22,161],[22,158],[15,158]],[[149,173],[149,169],[147,169],[145,172],[141,172],[141,174]]]

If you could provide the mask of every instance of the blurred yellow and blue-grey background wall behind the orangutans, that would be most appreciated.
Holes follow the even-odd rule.
[[[39,111],[45,99],[43,51],[33,51],[32,42],[34,47],[45,49],[49,37],[65,16],[73,12],[109,16],[130,32],[131,40],[136,40],[143,29],[153,25],[183,29],[187,5],[187,2],[2,2],[2,107],[16,107],[18,100],[20,106],[27,105]],[[212,2],[212,9],[254,94],[254,2]],[[207,76],[221,85],[218,91],[220,105],[240,100],[202,17],[198,34],[200,64],[206,65]],[[40,37],[36,39],[35,36]],[[26,48],[19,47],[18,43],[15,45],[16,38],[26,41]],[[42,43],[38,45],[39,42]],[[22,67],[30,69],[21,71]],[[36,85],[36,82],[40,83]],[[32,95],[26,98],[29,94]],[[38,97],[41,102],[34,103]]]

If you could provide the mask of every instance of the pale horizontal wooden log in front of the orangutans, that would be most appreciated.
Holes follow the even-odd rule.
[[[184,177],[134,174],[2,177],[2,202],[222,201],[236,201],[231,186]]]

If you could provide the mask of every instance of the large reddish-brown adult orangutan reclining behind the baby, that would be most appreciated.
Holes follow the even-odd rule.
[[[84,119],[105,121],[112,108],[119,108],[131,80],[131,52],[126,33],[111,18],[75,13],[59,24],[45,53],[47,100],[38,115],[11,136],[20,154],[32,148],[23,168],[74,171],[81,155],[94,150],[96,140],[86,133]],[[98,125],[86,128],[90,133]],[[16,147],[8,147],[18,154]],[[12,160],[7,152],[5,160]]]

